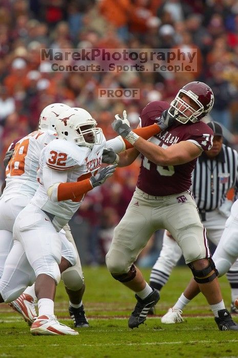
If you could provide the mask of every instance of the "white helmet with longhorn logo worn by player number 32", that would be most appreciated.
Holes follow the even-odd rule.
[[[55,130],[58,138],[92,149],[94,145],[102,143],[102,129],[96,125],[97,122],[88,111],[73,107],[60,114]],[[89,134],[91,134],[91,138],[88,136],[85,139],[85,135]]]

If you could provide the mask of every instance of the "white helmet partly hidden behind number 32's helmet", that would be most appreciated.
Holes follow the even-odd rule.
[[[54,130],[55,131],[55,122],[58,119],[62,111],[70,108],[67,104],[63,103],[52,103],[49,106],[45,107],[39,118],[39,130]]]

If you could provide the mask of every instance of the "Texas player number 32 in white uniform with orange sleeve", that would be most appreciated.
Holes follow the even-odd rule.
[[[80,207],[84,193],[101,185],[116,168],[116,164],[108,166],[96,174],[105,138],[87,111],[70,108],[59,118],[59,139],[51,141],[41,152],[40,185],[31,203],[15,220],[13,248],[0,280],[0,300],[9,302],[36,278],[39,317],[31,326],[32,334],[77,334],[54,316],[62,242],[58,232]],[[9,164],[12,161],[14,158]],[[75,261],[76,255],[73,257],[73,251],[68,249],[66,266]]]

